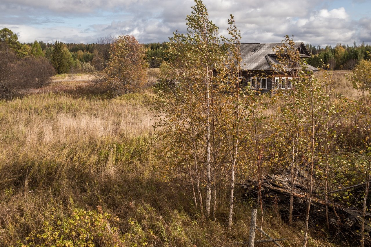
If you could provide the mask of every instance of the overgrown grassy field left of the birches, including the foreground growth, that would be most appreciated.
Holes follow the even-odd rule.
[[[340,73],[339,73],[340,75]],[[345,85],[345,84],[344,84]],[[351,95],[352,90],[346,91]],[[162,180],[153,93],[112,98],[87,75],[0,101],[0,246],[233,246],[248,239],[239,200],[202,221],[190,194]],[[267,210],[265,228],[300,246],[302,223]],[[319,231],[311,246],[331,246]],[[262,246],[272,246],[266,244]]]

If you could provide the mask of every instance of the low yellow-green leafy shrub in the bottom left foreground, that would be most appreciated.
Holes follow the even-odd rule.
[[[114,219],[104,213],[102,207],[96,210],[74,208],[72,214],[66,217],[58,215],[58,210],[52,208],[39,230],[32,231],[22,246],[122,246]],[[112,224],[112,226],[111,226]],[[23,243],[22,243],[23,242]],[[24,243],[25,242],[25,243]]]

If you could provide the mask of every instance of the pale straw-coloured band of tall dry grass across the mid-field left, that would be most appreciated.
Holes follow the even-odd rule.
[[[88,101],[53,93],[3,101],[0,112],[4,141],[22,146],[148,136],[153,117],[141,99]]]

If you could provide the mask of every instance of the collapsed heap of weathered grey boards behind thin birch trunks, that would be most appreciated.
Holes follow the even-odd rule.
[[[319,184],[315,181],[313,184]],[[307,208],[307,185],[308,179],[306,172],[299,170],[296,176],[296,182],[293,193],[293,217],[298,220],[303,220]],[[243,184],[247,197],[258,199],[259,186],[257,181],[246,181]],[[265,206],[273,207],[279,210],[283,218],[288,216],[290,206],[290,189],[291,175],[289,170],[285,170],[282,174],[265,175],[261,181],[262,200]],[[313,197],[311,202],[311,222],[312,227],[316,225],[326,225],[326,203],[324,194],[316,194],[316,188],[313,188]],[[353,185],[341,190],[332,191],[351,191],[353,195],[362,194],[365,189],[365,184]],[[329,196],[330,198],[330,196]],[[360,198],[360,196],[359,196]],[[340,200],[328,200],[328,219],[329,233],[332,237],[342,238],[346,240],[349,246],[357,246],[361,238],[362,227],[362,209],[349,207],[346,203]],[[366,213],[365,217],[365,244],[371,246],[371,214]]]

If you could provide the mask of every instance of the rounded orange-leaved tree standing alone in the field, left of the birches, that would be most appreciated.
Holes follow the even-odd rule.
[[[147,75],[145,50],[132,35],[118,36],[111,46],[111,57],[104,69],[106,86],[125,93],[142,86]]]

